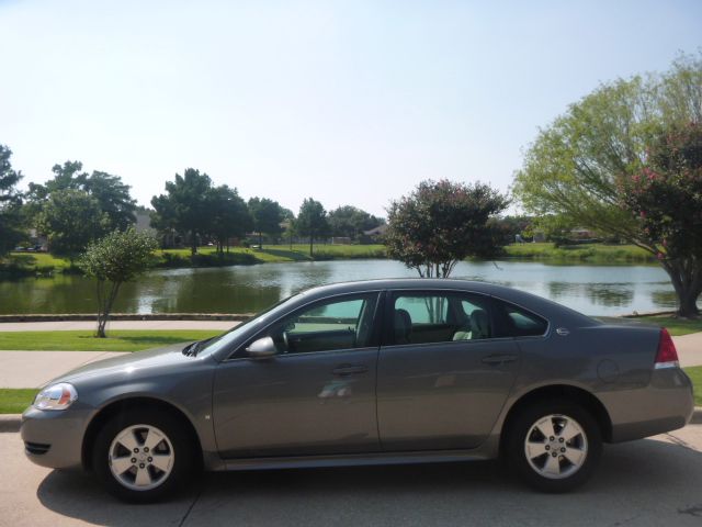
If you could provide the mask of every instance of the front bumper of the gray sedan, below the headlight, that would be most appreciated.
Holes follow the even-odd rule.
[[[20,435],[24,453],[34,463],[50,469],[82,467],[82,442],[89,411],[44,411],[30,406],[22,414]]]

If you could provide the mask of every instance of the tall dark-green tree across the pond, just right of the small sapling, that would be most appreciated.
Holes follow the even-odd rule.
[[[212,180],[206,173],[194,168],[185,169],[183,176],[177,173],[174,181],[166,182],[166,194],[151,198],[154,226],[190,233],[191,251],[195,255],[199,237],[207,234],[212,225],[211,191]]]

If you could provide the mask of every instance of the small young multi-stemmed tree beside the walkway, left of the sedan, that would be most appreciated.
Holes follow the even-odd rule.
[[[120,288],[144,272],[157,248],[154,237],[126,231],[113,231],[91,243],[80,258],[79,266],[86,276],[95,280],[98,302],[98,329],[95,336],[105,338],[105,325],[114,306]]]

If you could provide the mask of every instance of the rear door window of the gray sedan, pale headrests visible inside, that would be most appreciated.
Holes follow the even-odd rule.
[[[393,344],[479,340],[492,336],[490,302],[468,293],[398,293],[392,304]]]

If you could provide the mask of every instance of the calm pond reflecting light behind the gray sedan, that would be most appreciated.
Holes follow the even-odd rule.
[[[251,313],[313,285],[416,276],[393,260],[155,270],[123,287],[114,312]],[[669,310],[676,303],[667,274],[656,266],[464,261],[453,277],[510,285],[591,315]],[[0,314],[92,312],[94,284],[79,276],[0,282]]]

